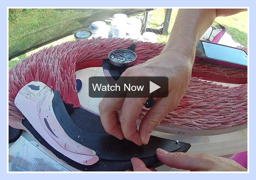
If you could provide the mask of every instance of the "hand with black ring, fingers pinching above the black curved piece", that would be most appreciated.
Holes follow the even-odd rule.
[[[138,145],[147,144],[153,129],[183,98],[191,77],[191,58],[178,51],[167,50],[143,64],[128,68],[121,76],[167,77],[168,97],[154,98],[156,103],[141,120],[139,130],[136,120],[149,97],[103,98],[99,110],[105,131],[119,139],[125,137]]]

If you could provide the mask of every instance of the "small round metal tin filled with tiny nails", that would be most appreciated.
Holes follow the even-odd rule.
[[[135,63],[137,55],[135,52],[127,49],[118,49],[108,54],[109,62],[118,67],[132,66]]]

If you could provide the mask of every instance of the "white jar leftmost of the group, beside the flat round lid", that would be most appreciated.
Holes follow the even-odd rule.
[[[92,38],[108,38],[109,27],[104,21],[95,21],[89,26]]]

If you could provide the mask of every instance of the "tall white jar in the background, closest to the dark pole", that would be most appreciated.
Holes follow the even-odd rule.
[[[141,20],[136,17],[129,17],[126,21],[126,33],[127,36],[133,37],[132,39],[138,39],[141,35]]]

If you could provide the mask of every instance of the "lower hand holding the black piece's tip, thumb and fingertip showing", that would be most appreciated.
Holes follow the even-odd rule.
[[[169,153],[165,150],[157,149],[156,156],[163,164],[177,169],[190,171],[247,171],[246,168],[233,160],[205,153]],[[147,168],[139,158],[134,157],[131,162],[133,171],[156,171],[155,169]]]

